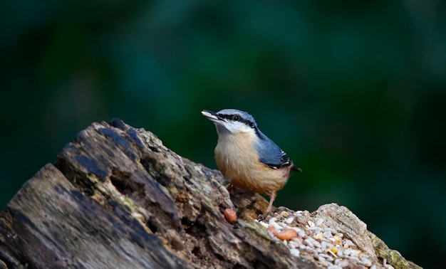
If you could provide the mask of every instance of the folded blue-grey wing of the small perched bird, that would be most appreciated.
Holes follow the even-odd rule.
[[[271,139],[260,133],[261,139],[255,147],[259,152],[259,161],[271,168],[278,169],[290,165],[288,155],[280,149]]]

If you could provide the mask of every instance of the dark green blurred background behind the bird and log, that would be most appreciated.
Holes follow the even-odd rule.
[[[446,267],[445,1],[1,1],[0,206],[119,117],[216,168],[238,108],[304,170],[276,206],[348,206]]]

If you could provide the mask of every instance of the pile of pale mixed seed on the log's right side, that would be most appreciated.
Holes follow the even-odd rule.
[[[303,211],[289,213],[282,211],[265,221],[259,221],[268,228],[268,233],[277,241],[281,241],[290,250],[291,255],[304,259],[314,258],[318,263],[328,269],[342,268],[386,268],[393,269],[385,260],[380,264],[373,264],[370,257],[361,251],[351,240],[345,238],[343,233],[324,225],[323,218],[309,218],[305,227],[297,227],[296,218],[302,216]],[[257,221],[257,220],[256,220]],[[294,229],[296,233],[286,233]],[[289,238],[279,234],[294,234]],[[282,238],[283,240],[279,240]]]

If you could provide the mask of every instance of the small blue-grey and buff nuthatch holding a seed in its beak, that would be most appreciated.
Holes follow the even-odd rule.
[[[269,195],[266,213],[276,199],[276,192],[288,181],[294,166],[288,155],[260,132],[254,117],[247,112],[233,109],[212,112],[202,110],[202,115],[215,123],[218,142],[215,161],[223,176],[229,180],[228,191],[233,186]]]

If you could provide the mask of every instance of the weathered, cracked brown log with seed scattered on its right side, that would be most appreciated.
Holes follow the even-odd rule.
[[[262,221],[263,197],[224,184],[151,132],[93,123],[0,213],[0,268],[419,268],[346,207],[281,207]]]

